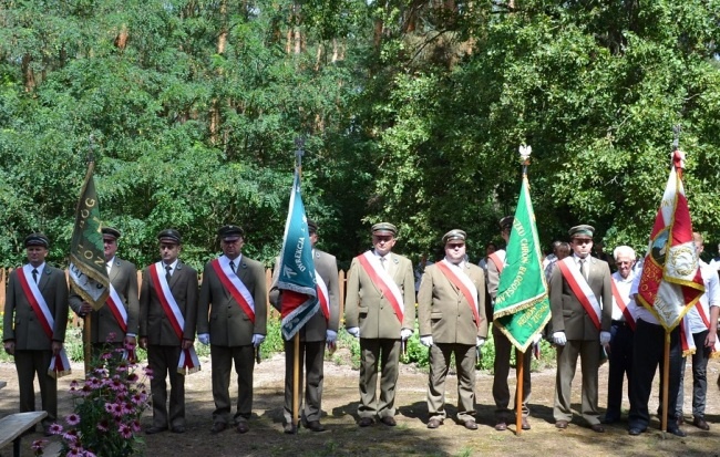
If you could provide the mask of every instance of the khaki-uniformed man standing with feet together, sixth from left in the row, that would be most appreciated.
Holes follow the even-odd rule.
[[[391,252],[395,235],[398,229],[392,224],[372,226],[373,249],[352,259],[348,273],[344,323],[348,333],[360,339],[361,427],[372,425],[376,416],[388,426],[397,425],[393,416],[401,341],[412,335],[415,325],[412,262]]]

